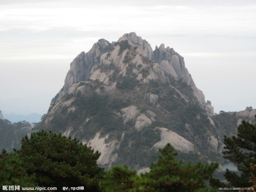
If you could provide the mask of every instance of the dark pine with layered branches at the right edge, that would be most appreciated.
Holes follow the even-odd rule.
[[[233,162],[241,175],[227,170],[224,174],[229,184],[234,187],[250,187],[250,174],[256,175],[256,170],[251,165],[256,164],[256,125],[245,120],[238,126],[237,137],[224,136],[224,158]]]

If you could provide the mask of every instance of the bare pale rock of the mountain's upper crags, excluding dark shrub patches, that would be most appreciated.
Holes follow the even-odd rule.
[[[181,80],[191,86],[193,96],[195,96],[192,102],[203,108],[209,115],[214,114],[211,102],[205,102],[203,92],[194,84],[191,75],[185,67],[184,58],[172,48],[165,48],[164,44],[161,44],[159,48],[156,46],[155,51],[152,51],[150,44],[146,40],[142,40],[141,37],[138,37],[135,32],[126,33],[120,37],[117,42],[113,43],[100,39],[93,45],[88,53],[82,52],[77,55],[70,64],[70,70],[66,75],[64,88],[63,91],[60,92],[60,96],[64,96],[64,94],[68,92],[68,89],[75,83],[87,81],[89,78],[94,80],[98,79],[105,84],[109,84],[109,78],[107,77],[112,74],[104,75],[99,73],[99,70],[96,70],[96,68],[102,64],[110,65],[113,63],[117,69],[121,70],[121,74],[124,75],[126,72],[124,59],[127,57],[124,53],[127,54],[127,52],[123,52],[122,55],[118,54],[120,50],[119,43],[122,41],[128,41],[131,47],[136,48],[136,53],[138,53],[139,56],[136,56],[132,61],[136,63],[136,66],[142,65],[142,69],[144,69],[145,64],[143,59],[148,58],[153,61],[153,66],[149,68],[152,72],[144,79],[144,83],[149,83],[149,80],[152,79],[169,83],[170,79],[174,79],[175,81]],[[139,49],[137,47],[139,47]],[[109,51],[111,51],[110,55],[108,55]],[[137,71],[135,74],[139,76],[137,77],[138,80],[142,79],[141,71]]]

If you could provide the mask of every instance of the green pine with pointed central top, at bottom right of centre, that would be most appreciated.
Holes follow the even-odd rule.
[[[210,165],[201,162],[197,164],[182,164],[175,160],[178,155],[174,148],[168,143],[163,149],[159,149],[162,156],[156,163],[152,163],[150,172],[145,176],[152,179],[149,183],[155,191],[159,192],[194,192],[197,190],[210,190],[204,181],[208,180],[218,164]]]

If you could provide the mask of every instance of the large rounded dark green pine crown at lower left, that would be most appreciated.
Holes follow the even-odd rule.
[[[29,186],[36,183],[36,186],[57,187],[58,191],[62,191],[63,186],[84,186],[85,191],[97,192],[104,175],[104,169],[96,163],[99,156],[98,151],[94,153],[91,147],[76,139],[42,130],[32,133],[31,138],[25,136],[21,149],[13,154],[3,151],[0,179],[6,184],[13,183],[14,179],[16,184],[28,181]]]

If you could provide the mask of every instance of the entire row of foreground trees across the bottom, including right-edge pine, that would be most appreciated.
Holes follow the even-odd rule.
[[[256,189],[256,125],[242,121],[237,136],[224,137],[224,158],[235,163],[240,175],[226,171],[224,184],[213,178],[218,164],[183,164],[168,143],[159,149],[160,156],[150,171],[138,174],[117,165],[105,171],[96,160],[100,153],[76,139],[42,130],[25,136],[21,149],[0,154],[2,186],[63,187],[83,186],[87,192],[214,192],[220,187]],[[2,190],[2,189],[0,189]],[[232,191],[232,190],[231,190]],[[246,190],[245,190],[246,191]]]

